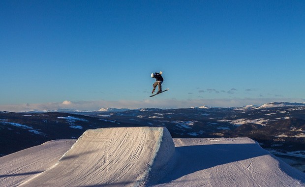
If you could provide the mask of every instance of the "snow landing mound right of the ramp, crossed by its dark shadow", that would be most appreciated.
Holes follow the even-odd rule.
[[[162,187],[305,187],[305,173],[249,138],[174,139],[175,169]]]

